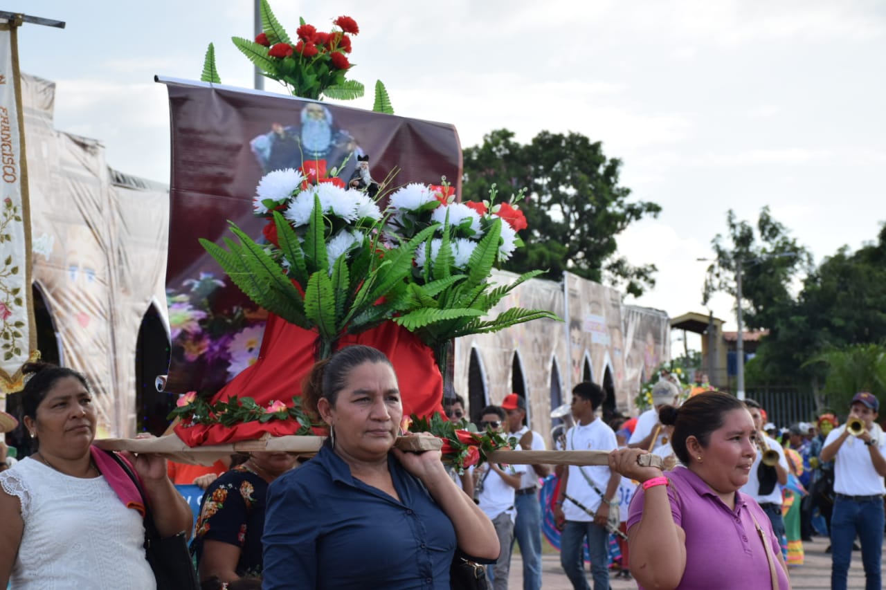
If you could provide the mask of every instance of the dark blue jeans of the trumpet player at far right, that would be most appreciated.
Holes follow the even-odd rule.
[[[845,590],[852,561],[852,541],[858,534],[865,588],[880,590],[880,559],[883,545],[883,501],[853,501],[836,497],[831,515],[831,588]]]

